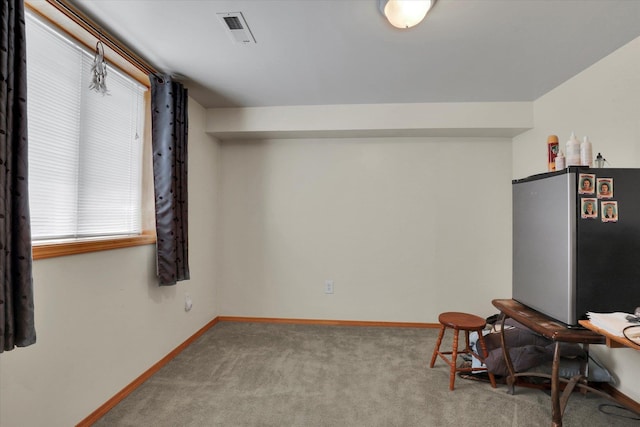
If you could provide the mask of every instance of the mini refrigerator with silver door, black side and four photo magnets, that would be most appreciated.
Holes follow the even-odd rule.
[[[640,169],[569,167],[512,187],[515,300],[570,326],[640,306]]]

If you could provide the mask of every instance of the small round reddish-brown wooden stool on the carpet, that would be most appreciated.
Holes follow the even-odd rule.
[[[475,356],[478,360],[484,362],[484,356],[480,356],[478,353],[471,350],[469,347],[469,332],[475,331],[478,333],[478,342],[480,343],[480,348],[482,349],[482,354],[487,355],[487,346],[484,343],[484,337],[482,336],[482,330],[486,325],[486,322],[482,317],[474,316],[473,314],[467,313],[441,313],[438,316],[438,321],[442,325],[440,328],[440,334],[438,335],[438,342],[436,343],[436,348],[433,350],[433,356],[431,356],[431,365],[430,368],[433,368],[433,365],[436,363],[436,357],[440,356],[442,360],[444,360],[447,365],[451,367],[451,374],[449,375],[449,390],[453,390],[453,383],[456,379],[456,372],[473,372],[473,371],[486,371],[489,374],[489,380],[491,381],[491,387],[496,388],[496,379],[491,372],[487,370],[487,368],[458,368],[456,365],[456,359],[458,358],[458,354],[467,353]],[[444,337],[444,331],[447,328],[453,329],[453,351],[440,351],[440,344],[442,343],[442,337]],[[465,348],[463,350],[458,350],[458,332],[464,331],[465,336]],[[447,358],[446,355],[451,355],[451,358]]]

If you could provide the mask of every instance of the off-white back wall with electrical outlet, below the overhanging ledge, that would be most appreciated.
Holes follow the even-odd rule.
[[[510,296],[510,139],[221,151],[222,315],[437,322],[442,311],[493,314],[491,300]]]

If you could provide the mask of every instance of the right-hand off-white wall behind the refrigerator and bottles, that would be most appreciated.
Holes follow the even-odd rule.
[[[514,138],[515,178],[546,171],[547,135],[557,134],[564,146],[571,131],[588,135],[611,167],[640,167],[640,38],[538,99],[534,115],[534,129]],[[620,391],[640,401],[640,352],[592,349]]]

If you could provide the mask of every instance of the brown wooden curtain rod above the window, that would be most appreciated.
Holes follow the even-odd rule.
[[[85,13],[81,12],[76,6],[68,0],[47,0],[47,3],[65,14],[69,19],[78,24],[92,36],[107,45],[111,50],[131,62],[140,71],[146,74],[159,74],[149,62],[140,57],[134,51],[125,46],[117,38],[106,32],[96,21],[89,18]]]

